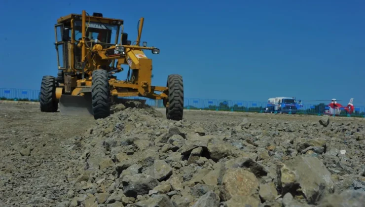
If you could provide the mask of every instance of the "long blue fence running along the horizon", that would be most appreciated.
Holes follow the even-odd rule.
[[[4,89],[0,88],[1,100],[15,100],[15,101],[38,101],[40,90],[29,89]],[[151,100],[143,97],[133,97],[134,99],[146,100],[146,104],[155,107],[164,107],[161,100]],[[218,111],[242,111],[242,112],[258,112],[265,111],[267,102],[254,102],[254,101],[231,101],[231,100],[219,100],[219,99],[194,99],[185,98],[184,108],[186,109],[201,109],[201,110],[218,110]],[[309,114],[309,115],[322,115],[325,110],[328,109],[323,104],[303,104],[303,107],[299,108],[296,114]],[[346,103],[347,104],[347,103]],[[341,115],[349,116],[344,110]],[[352,117],[364,117],[365,118],[365,106],[355,105],[355,113],[351,114]]]

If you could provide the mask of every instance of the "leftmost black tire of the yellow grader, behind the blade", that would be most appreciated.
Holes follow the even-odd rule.
[[[56,99],[56,80],[53,76],[43,76],[40,84],[39,104],[42,112],[56,112],[58,101]]]

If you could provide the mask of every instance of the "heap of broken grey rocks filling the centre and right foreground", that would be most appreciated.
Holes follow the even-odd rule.
[[[262,124],[169,121],[156,114],[129,107],[75,139],[79,175],[62,204],[364,205],[364,125],[329,123],[326,116]]]

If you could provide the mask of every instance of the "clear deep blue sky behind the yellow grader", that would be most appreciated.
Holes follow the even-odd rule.
[[[161,50],[146,53],[152,83],[165,86],[168,74],[179,73],[185,98],[365,105],[364,0],[0,2],[0,88],[39,89],[43,75],[56,76],[54,24],[85,9],[124,19],[131,40],[145,17],[142,41]]]

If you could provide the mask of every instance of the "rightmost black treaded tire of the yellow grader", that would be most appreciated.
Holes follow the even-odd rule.
[[[183,119],[184,110],[184,87],[183,77],[178,74],[171,74],[167,77],[169,89],[169,104],[166,107],[166,118],[180,121]]]

